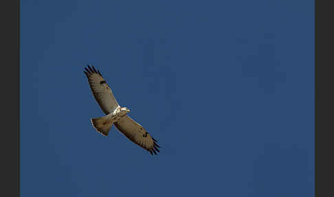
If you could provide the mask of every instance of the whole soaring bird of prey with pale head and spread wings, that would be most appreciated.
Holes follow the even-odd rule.
[[[146,149],[152,155],[153,153],[157,154],[159,152],[159,145],[157,145],[155,138],[151,137],[142,125],[127,115],[130,112],[128,108],[118,105],[111,88],[103,79],[100,71],[88,65],[88,68],[85,68],[84,72],[88,78],[94,98],[104,114],[106,114],[106,116],[100,118],[91,118],[91,123],[96,131],[100,132],[103,136],[107,136],[111,127],[115,125],[133,143]]]

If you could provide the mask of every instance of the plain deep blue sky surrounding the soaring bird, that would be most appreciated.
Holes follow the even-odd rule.
[[[313,196],[313,1],[21,1],[21,196]],[[94,65],[162,146],[103,116]]]

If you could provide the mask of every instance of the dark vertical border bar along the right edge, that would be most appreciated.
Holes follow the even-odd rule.
[[[334,17],[331,4],[331,1],[315,1],[315,196],[318,197],[334,196]]]

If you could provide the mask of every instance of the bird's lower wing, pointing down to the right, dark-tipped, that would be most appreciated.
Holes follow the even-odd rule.
[[[124,116],[124,118],[114,124],[115,127],[124,134],[126,138],[133,141],[133,143],[146,149],[151,154],[157,154],[157,152],[159,152],[157,141],[146,132],[146,129],[144,129],[142,125],[133,121],[128,115]]]

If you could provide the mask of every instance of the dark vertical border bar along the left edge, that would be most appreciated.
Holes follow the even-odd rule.
[[[0,196],[20,196],[20,1],[0,9]]]

